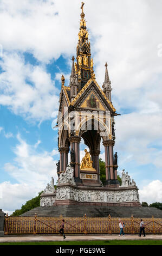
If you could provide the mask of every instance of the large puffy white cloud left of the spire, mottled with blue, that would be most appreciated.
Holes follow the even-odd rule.
[[[17,53],[4,54],[0,65],[0,104],[27,120],[43,121],[56,114],[59,90],[43,66],[25,64]]]

